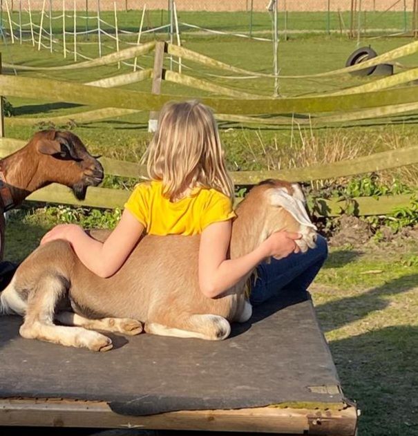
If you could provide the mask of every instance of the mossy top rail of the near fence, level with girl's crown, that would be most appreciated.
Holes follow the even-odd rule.
[[[417,41],[418,42],[418,41]],[[122,52],[120,52],[122,53]],[[124,89],[99,88],[35,77],[0,75],[0,93],[12,97],[42,98],[50,102],[67,102],[99,107],[117,107],[158,111],[171,100],[189,99],[187,95],[170,95],[127,91]],[[387,105],[417,102],[418,87],[403,86],[368,93],[352,95],[319,95],[318,97],[289,97],[276,99],[232,99],[202,97],[202,103],[213,108],[215,113],[279,114],[279,113],[321,113],[354,111]]]

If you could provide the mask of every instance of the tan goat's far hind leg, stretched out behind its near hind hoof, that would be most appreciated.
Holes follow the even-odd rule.
[[[55,319],[64,325],[77,325],[88,330],[104,330],[105,332],[140,334],[142,324],[136,319],[130,318],[102,318],[88,319],[74,312],[58,312]]]

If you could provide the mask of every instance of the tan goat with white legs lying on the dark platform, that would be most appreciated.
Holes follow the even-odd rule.
[[[298,184],[268,180],[254,187],[236,210],[231,258],[243,256],[272,232],[301,232],[302,252],[314,247],[316,231],[307,217]],[[288,210],[296,210],[299,220]],[[301,224],[303,222],[303,224]],[[92,233],[104,240],[106,234]],[[25,317],[20,334],[62,345],[106,351],[111,339],[86,329],[124,334],[145,331],[175,337],[220,340],[229,322],[251,316],[244,277],[218,298],[207,298],[198,284],[199,236],[144,236],[126,263],[100,278],[78,260],[70,245],[55,240],[37,248],[19,266],[1,293],[0,311]],[[59,311],[70,301],[75,313]],[[55,325],[54,319],[65,325]]]

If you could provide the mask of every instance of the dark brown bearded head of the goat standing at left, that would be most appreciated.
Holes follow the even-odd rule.
[[[39,155],[44,184],[65,184],[73,189],[78,200],[84,200],[89,186],[97,186],[103,180],[102,164],[88,153],[83,142],[73,133],[40,131],[35,133],[28,146]]]

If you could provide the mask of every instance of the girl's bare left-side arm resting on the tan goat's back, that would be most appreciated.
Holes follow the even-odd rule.
[[[41,244],[64,239],[73,246],[84,265],[100,277],[115,274],[140,239],[144,225],[127,209],[104,243],[88,236],[78,225],[58,225],[42,238]]]

